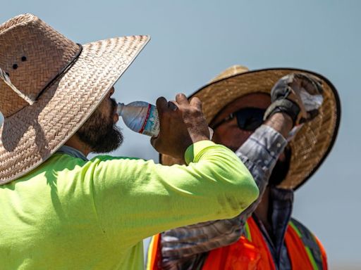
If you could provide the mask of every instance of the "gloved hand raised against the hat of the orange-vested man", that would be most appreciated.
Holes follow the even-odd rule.
[[[312,75],[292,73],[279,79],[271,90],[272,104],[264,114],[267,120],[274,113],[290,115],[294,125],[312,120],[322,105],[322,83]]]

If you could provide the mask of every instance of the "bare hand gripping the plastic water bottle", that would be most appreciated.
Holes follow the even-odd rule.
[[[209,139],[209,129],[202,113],[199,98],[188,102],[184,94],[177,94],[176,101],[157,99],[160,131],[152,138],[152,146],[162,154],[184,158],[185,150],[192,143]]]

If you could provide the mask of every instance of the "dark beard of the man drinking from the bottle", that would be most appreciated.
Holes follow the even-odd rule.
[[[111,98],[111,111],[116,110],[116,101]],[[123,143],[123,134],[114,124],[113,115],[104,117],[97,108],[77,131],[80,141],[90,146],[92,153],[107,153]]]

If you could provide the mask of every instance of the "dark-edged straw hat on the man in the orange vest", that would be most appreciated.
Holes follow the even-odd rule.
[[[336,140],[341,117],[341,105],[336,88],[329,79],[309,70],[295,68],[270,68],[249,71],[235,65],[222,72],[209,84],[192,94],[202,101],[202,110],[207,122],[236,98],[253,93],[270,94],[272,86],[284,75],[304,72],[321,79],[324,87],[324,102],[319,115],[307,122],[290,141],[292,155],[290,169],[279,188],[297,189],[310,179],[329,155]],[[179,164],[180,161],[168,155],[160,155],[164,165]]]

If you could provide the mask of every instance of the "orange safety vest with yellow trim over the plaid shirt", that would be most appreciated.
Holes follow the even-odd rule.
[[[322,244],[295,219],[288,224],[285,242],[292,269],[327,269],[326,252]],[[149,245],[147,270],[160,270],[160,261],[160,235],[157,235]],[[252,217],[245,224],[245,236],[231,245],[209,252],[202,270],[216,269],[276,270],[268,245]]]

